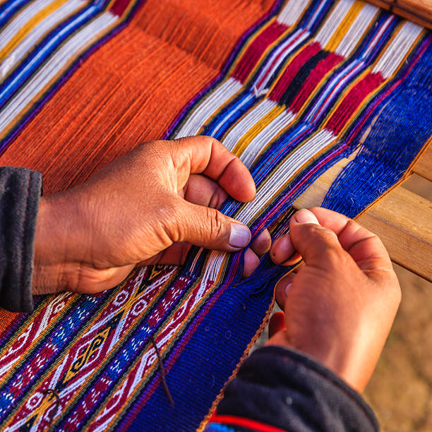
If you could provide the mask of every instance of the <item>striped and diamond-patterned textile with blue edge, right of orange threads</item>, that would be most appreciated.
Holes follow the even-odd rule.
[[[400,167],[408,169],[431,136],[431,52],[430,33],[362,1],[278,3],[168,136],[205,133],[239,155],[251,169],[257,198],[247,205],[227,200],[222,210],[247,223],[254,236],[265,227],[276,236],[287,230],[296,196],[353,152],[379,114],[363,156],[342,173],[354,172],[351,186],[343,189],[342,177],[328,198],[335,208],[356,184],[367,183],[366,198],[352,210],[359,212],[403,175]],[[395,104],[402,102],[398,112]],[[409,124],[394,121],[401,112]],[[403,141],[383,136],[390,121],[392,137]],[[378,138],[381,159],[373,163]],[[370,179],[376,169],[379,179]],[[40,299],[34,313],[0,335],[5,430],[197,428],[262,328],[272,287],[285,271],[265,256],[255,274],[241,280],[242,265],[241,253],[196,248],[182,269],[136,270],[98,296]]]

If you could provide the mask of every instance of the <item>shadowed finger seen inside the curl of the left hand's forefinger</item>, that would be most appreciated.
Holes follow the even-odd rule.
[[[197,205],[220,208],[227,192],[216,181],[200,174],[192,174],[183,188],[184,199]]]

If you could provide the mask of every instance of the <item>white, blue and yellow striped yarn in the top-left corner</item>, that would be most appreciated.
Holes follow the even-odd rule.
[[[49,95],[131,17],[138,0],[5,1],[0,8],[0,152]]]

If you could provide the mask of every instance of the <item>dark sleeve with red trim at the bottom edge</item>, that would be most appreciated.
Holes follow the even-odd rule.
[[[363,398],[334,373],[298,352],[253,352],[227,385],[208,431],[378,431]],[[227,429],[228,430],[228,429]]]

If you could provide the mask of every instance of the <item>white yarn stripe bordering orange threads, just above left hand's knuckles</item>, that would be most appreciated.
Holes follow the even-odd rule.
[[[231,99],[241,87],[241,83],[234,78],[228,78],[224,81],[224,83],[215,88],[203,102],[198,104],[198,107],[188,116],[186,123],[181,126],[181,129],[176,133],[174,138],[196,135],[205,124],[205,121],[214,112],[220,109],[227,100]]]

